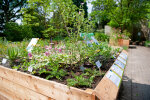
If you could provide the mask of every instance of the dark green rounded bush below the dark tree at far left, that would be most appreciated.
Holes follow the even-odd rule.
[[[6,38],[11,41],[21,41],[24,38],[32,38],[31,27],[27,25],[18,25],[14,22],[6,23],[4,34]]]

